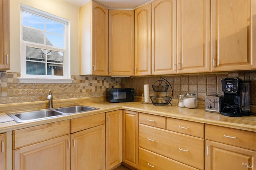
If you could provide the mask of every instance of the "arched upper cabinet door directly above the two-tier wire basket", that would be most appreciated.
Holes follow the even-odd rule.
[[[176,73],[176,0],[152,2],[152,74]]]

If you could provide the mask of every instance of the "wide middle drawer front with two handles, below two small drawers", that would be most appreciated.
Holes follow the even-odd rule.
[[[139,147],[189,166],[204,168],[204,139],[139,125]]]

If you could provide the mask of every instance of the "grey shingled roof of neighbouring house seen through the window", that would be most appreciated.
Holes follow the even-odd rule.
[[[30,41],[34,43],[41,43],[44,44],[44,33],[42,31],[29,28],[29,27],[22,27],[22,39],[24,41]],[[46,37],[46,44],[52,45],[49,39]],[[57,51],[47,51],[50,55],[48,55],[47,59],[50,61],[57,61],[58,63],[63,63],[63,56],[60,55]],[[26,58],[30,59],[38,59],[42,60],[45,59],[45,54],[42,52],[41,49],[37,49],[34,47],[27,47],[26,49]]]

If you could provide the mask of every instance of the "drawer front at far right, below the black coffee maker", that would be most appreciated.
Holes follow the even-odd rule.
[[[226,143],[236,147],[256,150],[256,133],[220,127],[215,125],[205,125],[205,139]]]

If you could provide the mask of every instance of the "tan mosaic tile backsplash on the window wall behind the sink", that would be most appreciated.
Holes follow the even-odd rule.
[[[106,96],[106,88],[119,88],[121,78],[100,76],[72,76],[71,84],[20,84],[20,73],[1,72],[1,104],[35,102],[46,100],[49,90],[55,100]]]

